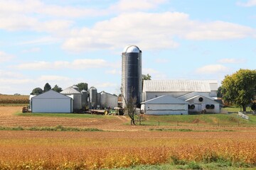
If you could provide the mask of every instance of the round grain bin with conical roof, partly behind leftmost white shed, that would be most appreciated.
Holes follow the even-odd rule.
[[[65,96],[70,96],[73,98],[73,107],[74,109],[81,109],[82,108],[82,94],[74,89],[73,87],[68,87],[60,92],[60,94],[64,94]]]

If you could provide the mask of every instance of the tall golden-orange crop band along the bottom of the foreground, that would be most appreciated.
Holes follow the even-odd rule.
[[[92,142],[92,141],[90,141]],[[220,141],[156,147],[82,147],[7,145],[0,149],[0,169],[111,169],[139,164],[179,162],[256,165],[255,142]]]

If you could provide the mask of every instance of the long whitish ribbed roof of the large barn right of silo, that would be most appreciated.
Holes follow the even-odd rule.
[[[143,92],[210,92],[218,90],[215,80],[144,80]]]

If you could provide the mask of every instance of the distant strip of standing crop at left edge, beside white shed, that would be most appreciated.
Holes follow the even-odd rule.
[[[26,95],[0,95],[0,103],[29,103],[29,96]]]

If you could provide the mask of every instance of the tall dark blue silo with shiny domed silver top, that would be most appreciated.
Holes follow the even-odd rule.
[[[136,45],[128,45],[122,52],[122,95],[126,100],[136,98],[137,106],[142,101],[142,51]]]

